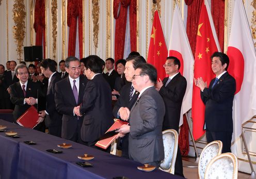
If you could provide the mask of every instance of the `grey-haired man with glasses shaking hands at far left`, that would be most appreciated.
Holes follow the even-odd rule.
[[[45,109],[45,105],[40,86],[28,80],[28,68],[24,64],[18,64],[15,74],[19,78],[19,82],[10,86],[10,99],[15,105],[13,118],[16,121],[30,106],[34,105],[38,110],[42,110]],[[34,129],[45,132],[44,123],[40,120],[38,122]]]

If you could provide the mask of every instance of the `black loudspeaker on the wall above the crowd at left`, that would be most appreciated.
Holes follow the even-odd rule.
[[[42,59],[42,46],[24,46],[24,61],[41,61]]]

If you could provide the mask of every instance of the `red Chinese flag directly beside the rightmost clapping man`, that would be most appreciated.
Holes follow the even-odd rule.
[[[218,49],[220,49],[219,42],[214,29],[211,11],[206,0],[202,4],[198,23],[194,77],[202,77],[203,81],[206,81],[208,86],[211,80],[215,77],[211,67],[211,55],[218,51]],[[200,89],[196,87],[194,83],[192,96],[192,118],[193,135],[195,140],[204,134],[204,110],[205,105],[200,97]]]

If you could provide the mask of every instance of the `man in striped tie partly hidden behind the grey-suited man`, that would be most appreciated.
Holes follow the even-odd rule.
[[[122,116],[125,119],[129,117],[128,111],[132,109],[139,95],[139,92],[132,85],[135,68],[140,63],[146,63],[146,60],[142,56],[133,56],[127,58],[126,61],[124,74],[128,83],[120,90],[120,97],[113,108],[114,117],[120,118]],[[129,158],[129,135],[125,135],[119,140],[121,140],[119,148],[122,150],[122,157]]]

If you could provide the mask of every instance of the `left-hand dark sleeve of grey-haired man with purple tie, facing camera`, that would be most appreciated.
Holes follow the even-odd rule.
[[[63,94],[61,88],[63,90],[65,90],[65,88],[63,88],[60,83],[55,84],[55,98],[54,99],[55,99],[55,103],[56,103],[56,109],[59,113],[62,113],[63,115],[74,116],[73,110],[74,110],[75,106],[66,105],[65,96],[68,94],[66,94],[66,95]]]

